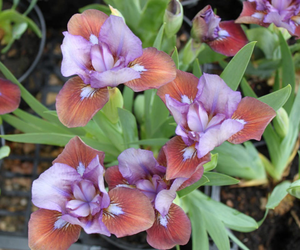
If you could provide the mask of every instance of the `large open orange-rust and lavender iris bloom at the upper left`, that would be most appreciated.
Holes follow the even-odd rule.
[[[117,16],[98,10],[75,14],[63,32],[63,76],[69,79],[57,96],[58,118],[67,127],[85,126],[105,103],[107,87],[124,83],[134,91],[159,88],[172,81],[172,58],[141,40]]]

